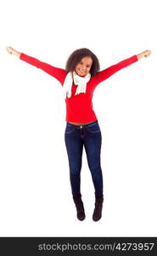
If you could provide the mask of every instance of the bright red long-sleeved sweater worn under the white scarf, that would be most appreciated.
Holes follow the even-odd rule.
[[[64,79],[67,72],[59,67],[53,67],[45,62],[39,61],[31,56],[20,54],[20,60],[26,61],[29,64],[41,68],[46,73],[58,79],[60,84],[64,84]],[[124,61],[121,61],[111,67],[98,72],[95,76],[91,77],[87,83],[86,93],[80,93],[75,96],[76,85],[72,85],[71,97],[66,97],[66,121],[73,123],[90,123],[97,120],[96,114],[93,111],[93,91],[96,86],[108,79],[111,75],[119,71],[121,68],[127,67],[137,61],[137,55],[133,55]]]

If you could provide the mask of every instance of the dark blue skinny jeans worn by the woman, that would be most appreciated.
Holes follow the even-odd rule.
[[[81,196],[81,158],[83,145],[87,154],[95,196],[103,198],[103,174],[100,166],[102,135],[98,120],[87,125],[66,123],[64,142],[70,166],[70,185],[73,198]]]

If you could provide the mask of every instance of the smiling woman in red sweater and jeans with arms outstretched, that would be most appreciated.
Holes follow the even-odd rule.
[[[22,61],[41,68],[46,73],[58,79],[63,86],[66,103],[66,127],[64,142],[70,166],[70,185],[73,200],[76,204],[77,218],[85,216],[81,200],[81,157],[83,145],[87,154],[87,163],[93,178],[95,189],[95,207],[93,220],[98,221],[102,216],[104,201],[103,175],[100,165],[102,135],[98,119],[93,111],[93,91],[96,86],[111,75],[150,55],[145,50],[138,55],[132,55],[111,67],[99,71],[99,61],[96,55],[87,48],[76,49],[68,58],[65,69],[53,67],[29,55],[20,53],[12,47],[7,47],[8,53],[16,55]]]

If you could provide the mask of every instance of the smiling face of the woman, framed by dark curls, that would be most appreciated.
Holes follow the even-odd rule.
[[[83,57],[76,65],[75,71],[81,76],[85,77],[93,65],[93,59],[89,56]]]

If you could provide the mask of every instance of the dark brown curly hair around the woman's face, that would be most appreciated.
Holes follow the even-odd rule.
[[[87,56],[90,56],[93,59],[90,73],[91,76],[94,76],[96,73],[98,73],[100,65],[97,56],[94,55],[93,52],[87,48],[76,49],[74,52],[72,52],[68,60],[66,61],[65,70],[67,72],[74,71],[78,62],[81,61],[83,57]]]

